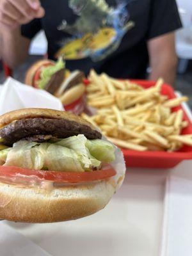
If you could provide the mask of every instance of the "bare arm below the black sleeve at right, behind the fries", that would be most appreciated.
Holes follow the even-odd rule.
[[[148,53],[152,69],[149,79],[156,81],[159,77],[163,77],[166,83],[173,85],[177,69],[175,33],[150,39]]]

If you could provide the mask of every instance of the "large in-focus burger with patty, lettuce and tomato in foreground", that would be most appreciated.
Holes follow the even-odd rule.
[[[78,116],[20,109],[0,116],[0,219],[75,220],[99,211],[122,184],[122,153]]]

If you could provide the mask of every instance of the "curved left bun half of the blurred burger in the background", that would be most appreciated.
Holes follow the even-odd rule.
[[[51,60],[39,60],[36,61],[26,72],[25,84],[33,86],[33,77],[35,76],[36,70],[43,67],[45,64],[54,64],[54,61]]]

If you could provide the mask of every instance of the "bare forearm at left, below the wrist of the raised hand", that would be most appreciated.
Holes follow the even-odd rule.
[[[28,56],[29,40],[16,29],[1,28],[1,57],[10,68],[17,67]]]

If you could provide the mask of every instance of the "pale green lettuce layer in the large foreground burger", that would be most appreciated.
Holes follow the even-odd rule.
[[[0,151],[0,164],[4,166],[60,172],[90,171],[99,168],[102,162],[109,163],[114,159],[111,143],[90,141],[83,134],[56,143],[20,140],[12,148]]]

